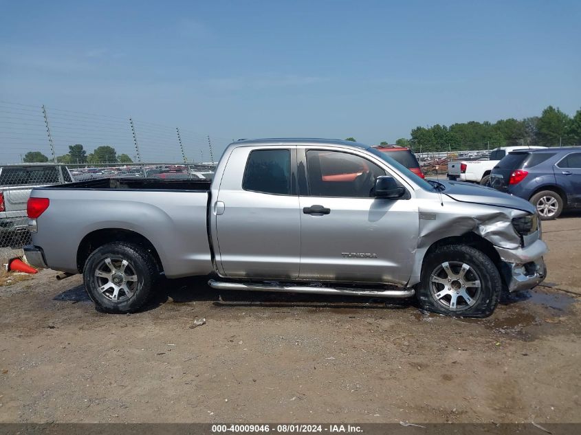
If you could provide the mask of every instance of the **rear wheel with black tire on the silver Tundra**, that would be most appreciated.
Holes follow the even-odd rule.
[[[127,264],[123,265],[124,262]],[[85,289],[105,313],[133,313],[142,309],[151,300],[159,276],[155,258],[146,249],[123,242],[95,249],[83,269]]]

